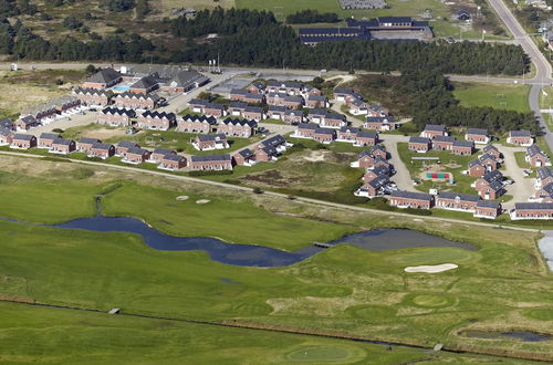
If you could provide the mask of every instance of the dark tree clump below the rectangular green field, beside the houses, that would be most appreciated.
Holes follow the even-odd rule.
[[[532,113],[502,111],[492,107],[459,106],[452,85],[437,71],[405,72],[396,93],[410,95],[413,122],[421,131],[427,123],[446,126],[486,128],[503,134],[513,129],[529,129],[541,134]]]

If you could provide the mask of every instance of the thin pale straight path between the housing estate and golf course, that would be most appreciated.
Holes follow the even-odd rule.
[[[32,155],[32,154],[25,154],[25,153],[17,153],[17,152],[3,152],[3,150],[0,152],[0,155],[23,157],[23,158],[38,158],[38,159],[48,157],[48,156],[41,156],[41,155]],[[238,191],[242,191],[242,192],[253,192],[253,188],[248,188],[248,187],[237,186],[237,185],[231,185],[231,184],[225,184],[225,182],[218,182],[218,181],[204,180],[200,178],[195,178],[195,177],[189,177],[189,176],[179,176],[179,175],[173,175],[169,173],[147,170],[147,169],[142,169],[139,167],[109,165],[109,164],[105,164],[105,163],[87,161],[87,160],[72,159],[72,158],[67,158],[66,160],[71,161],[71,163],[75,163],[75,164],[81,164],[81,165],[97,166],[97,167],[102,167],[102,168],[113,168],[113,169],[118,169],[118,170],[124,170],[124,171],[133,171],[133,173],[137,173],[137,174],[148,174],[148,175],[154,175],[154,176],[167,177],[167,178],[171,178],[171,179],[180,180],[180,181],[210,185],[210,186],[216,186],[216,187],[226,188],[226,189],[233,189],[233,190],[238,190]],[[285,194],[273,192],[273,191],[265,191],[264,194],[268,196],[282,198],[282,199],[288,199],[288,197],[289,197]],[[383,212],[382,210],[377,210],[377,209],[354,207],[354,206],[331,202],[331,201],[325,201],[325,200],[311,199],[311,198],[298,197],[294,201],[296,201],[299,204],[313,204],[313,205],[321,206],[321,207],[337,208],[337,209],[343,209],[346,211],[354,210],[354,211],[378,213],[378,215],[386,215],[386,216],[393,216],[393,217],[410,218],[410,219],[416,219],[417,221],[426,220],[426,221],[460,223],[460,225],[466,225],[466,226],[479,226],[479,227],[490,227],[490,228],[498,227],[498,225],[494,225],[494,223],[467,221],[467,220],[462,220],[462,219],[427,217],[427,216],[411,216],[408,213],[396,212],[396,211]],[[510,225],[501,225],[501,227],[518,230],[518,231],[528,231],[528,232],[539,232],[540,231],[539,229],[517,227],[517,226],[510,226]]]

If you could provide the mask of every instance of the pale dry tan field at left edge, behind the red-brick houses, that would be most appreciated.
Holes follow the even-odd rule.
[[[84,70],[0,71],[0,117],[17,117],[29,106],[65,95],[83,79]]]

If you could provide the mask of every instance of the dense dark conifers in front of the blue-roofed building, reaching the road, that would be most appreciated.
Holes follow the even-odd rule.
[[[406,67],[457,74],[518,75],[529,70],[519,45],[461,42],[341,41],[302,44],[290,27],[268,12],[250,10],[201,11],[196,19],[180,17],[173,34],[187,38],[188,48],[171,54],[173,62],[204,62],[221,54],[221,62],[239,65],[397,71]],[[190,38],[219,33],[209,44]]]

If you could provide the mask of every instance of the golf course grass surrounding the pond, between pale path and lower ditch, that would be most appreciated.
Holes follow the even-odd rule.
[[[2,159],[6,184],[1,186],[13,186],[10,195],[2,194],[12,200],[24,195],[40,196],[36,184],[31,181],[36,178],[38,165],[51,174],[39,180],[59,185],[61,189],[70,184],[66,175],[74,167],[21,159],[11,165],[10,160],[17,159]],[[121,184],[104,198],[105,212],[136,216],[170,233],[188,231],[230,241],[239,237],[238,242],[264,237],[263,242],[274,247],[283,247],[275,242],[293,239],[294,244],[288,248],[298,248],[298,241],[310,244],[312,240],[355,230],[354,226],[405,227],[468,242],[479,249],[371,252],[341,244],[292,267],[255,269],[213,262],[205,252],[152,250],[134,234],[0,221],[0,249],[9,252],[0,257],[3,278],[0,293],[4,299],[102,311],[121,307],[125,313],[238,321],[311,332],[338,331],[427,346],[445,343],[450,348],[553,356],[547,342],[479,340],[460,334],[467,328],[552,333],[551,320],[543,313],[553,303],[553,279],[536,251],[538,234],[392,218],[385,212],[321,209],[263,195],[236,196],[226,189],[216,195],[212,187],[170,178],[86,169],[93,174],[81,173],[87,175],[88,180],[79,181],[83,189],[74,196],[93,201],[93,194]],[[30,180],[17,182],[24,178]],[[157,187],[153,188],[152,184]],[[46,189],[41,192],[46,194]],[[190,197],[188,200],[176,200],[185,194]],[[194,201],[199,197],[212,201],[196,205]],[[52,200],[50,210],[59,211],[59,217],[70,217],[73,213],[66,212],[66,200]],[[50,219],[46,212],[33,213],[30,205],[12,207],[1,216],[27,216],[28,220],[36,221]],[[85,210],[93,212],[90,205]],[[320,221],[323,219],[327,222]],[[319,226],[313,226],[314,222]],[[204,228],[197,228],[198,225]],[[323,230],[330,236],[322,238]],[[445,262],[457,263],[459,269],[432,275],[408,274],[403,270],[406,265]],[[90,336],[95,335],[83,330],[77,338]],[[28,337],[41,338],[41,334],[29,332]]]

